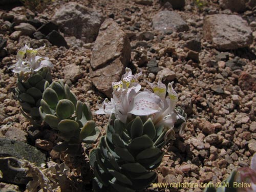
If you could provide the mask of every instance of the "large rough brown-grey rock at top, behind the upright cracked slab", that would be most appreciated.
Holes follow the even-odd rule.
[[[75,2],[63,5],[52,19],[65,35],[75,36],[84,42],[95,40],[103,22],[103,17],[99,12]]]

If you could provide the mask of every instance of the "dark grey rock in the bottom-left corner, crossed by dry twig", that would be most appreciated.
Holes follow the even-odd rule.
[[[46,156],[37,150],[34,146],[28,145],[22,141],[15,141],[5,138],[0,138],[0,157],[16,157],[18,159],[26,159],[31,163],[35,163],[40,166],[41,163],[45,163]],[[13,166],[15,162],[11,162]],[[27,184],[29,178],[25,177],[24,172],[16,172],[8,167],[7,160],[0,160],[0,170],[3,172],[3,182],[15,183],[15,184]]]

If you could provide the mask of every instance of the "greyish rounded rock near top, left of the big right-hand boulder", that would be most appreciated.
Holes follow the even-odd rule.
[[[189,29],[186,22],[174,11],[160,11],[153,17],[152,22],[153,28],[162,33],[170,31],[182,32]]]

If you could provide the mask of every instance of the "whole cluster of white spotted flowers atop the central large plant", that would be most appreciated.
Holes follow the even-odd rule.
[[[153,90],[152,93],[146,89],[140,91],[140,84],[135,82],[140,75],[141,73],[132,75],[131,69],[126,68],[121,81],[112,83],[113,98],[110,101],[105,99],[102,106],[95,113],[114,113],[116,118],[123,123],[132,114],[150,115],[155,126],[164,125],[164,127],[172,129],[178,118],[184,119],[175,112],[178,96],[173,89],[173,82],[168,84],[168,98],[166,98],[166,86],[162,83],[161,77],[157,84],[147,82]]]

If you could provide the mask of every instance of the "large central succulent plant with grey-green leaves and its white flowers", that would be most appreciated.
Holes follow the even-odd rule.
[[[183,111],[175,110],[178,97],[173,83],[166,89],[160,79],[156,85],[150,83],[154,92],[140,91],[136,82],[140,74],[132,75],[126,68],[121,81],[112,83],[113,98],[105,99],[95,112],[111,114],[106,135],[90,153],[95,191],[139,191],[150,185],[157,177],[152,170],[164,155],[161,148],[175,139],[175,122],[185,122]]]

